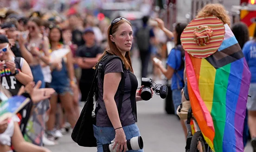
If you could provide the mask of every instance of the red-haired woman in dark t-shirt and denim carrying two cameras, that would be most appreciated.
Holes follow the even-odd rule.
[[[133,73],[129,51],[133,41],[131,23],[125,18],[116,18],[108,29],[109,49],[106,50],[99,62],[106,55],[121,58],[110,60],[104,68],[104,81],[98,78],[98,105],[94,136],[97,140],[97,152],[103,152],[104,145],[115,139],[117,151],[126,152],[126,139],[140,136],[137,122],[136,101],[141,101],[137,78]],[[124,70],[123,70],[124,67]],[[118,106],[121,90],[122,74],[125,74],[122,89],[122,108],[119,116]],[[142,87],[141,87],[142,88]],[[130,150],[129,152],[143,152]]]

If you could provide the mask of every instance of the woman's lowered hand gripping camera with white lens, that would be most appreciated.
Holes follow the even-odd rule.
[[[123,128],[115,129],[115,144],[113,146],[113,149],[115,149],[115,146],[117,146],[116,152],[126,152],[127,150],[126,136]]]

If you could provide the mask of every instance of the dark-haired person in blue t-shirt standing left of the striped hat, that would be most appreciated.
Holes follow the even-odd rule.
[[[158,24],[162,22],[158,21]],[[176,113],[177,108],[181,104],[181,89],[184,87],[184,55],[185,51],[182,49],[180,42],[180,35],[185,29],[187,24],[178,23],[173,31],[173,40],[175,47],[171,50],[167,58],[167,69],[162,65],[160,61],[155,60],[154,64],[160,71],[166,76],[167,79],[172,79],[172,98],[174,111]],[[166,34],[167,35],[167,34]],[[168,35],[167,35],[168,36]],[[180,120],[184,133],[187,136],[187,129],[184,120]]]

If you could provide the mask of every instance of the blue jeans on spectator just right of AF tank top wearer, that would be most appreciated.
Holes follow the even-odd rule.
[[[42,72],[41,65],[30,66],[30,69],[34,77],[34,82],[37,83],[40,80],[42,82],[42,85],[40,88],[45,88],[45,78]]]

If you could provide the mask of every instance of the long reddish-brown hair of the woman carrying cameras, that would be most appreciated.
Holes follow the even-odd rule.
[[[125,53],[125,56],[123,56],[121,51],[119,51],[118,48],[116,47],[115,42],[112,42],[111,39],[110,39],[110,34],[109,33],[111,32],[112,35],[115,35],[115,32],[117,31],[118,27],[120,25],[122,25],[123,23],[128,23],[130,26],[132,26],[131,23],[126,19],[121,19],[119,22],[113,24],[112,25],[112,32],[110,31],[111,25],[109,26],[109,29],[108,29],[108,49],[104,51],[104,53],[102,54],[102,56],[100,57],[98,62],[102,59],[103,56],[105,56],[107,53],[109,53],[109,54],[112,54],[112,55],[119,56],[122,59],[123,63],[124,63],[125,69],[128,69],[131,72],[133,72],[130,52],[127,51]]]

